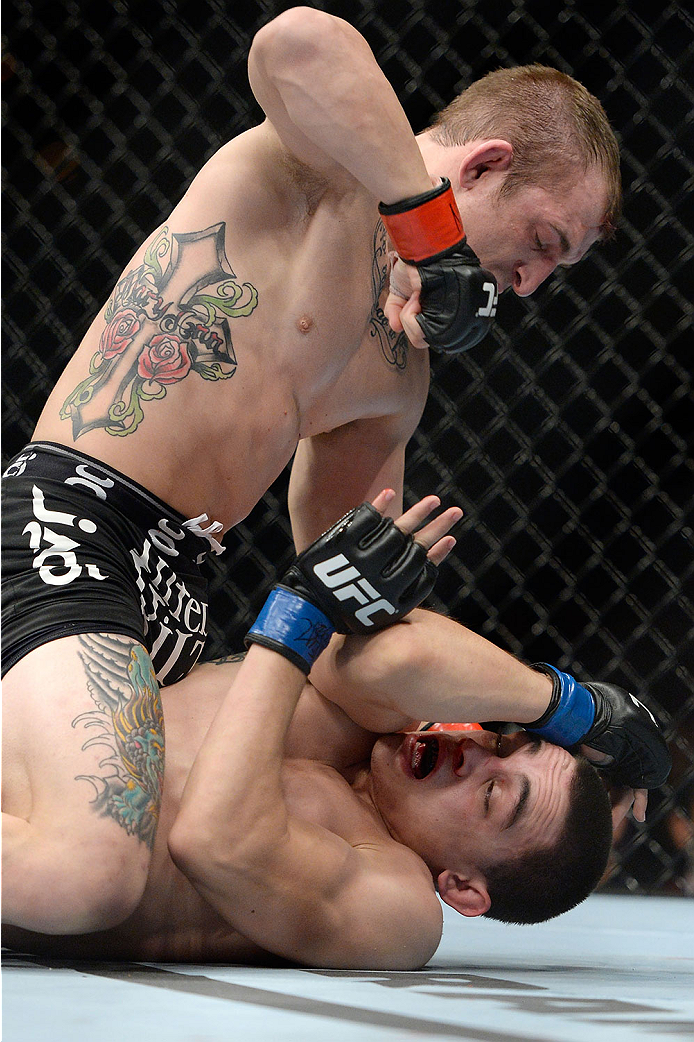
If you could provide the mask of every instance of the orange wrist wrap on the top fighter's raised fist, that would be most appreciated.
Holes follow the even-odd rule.
[[[430,192],[378,206],[386,230],[401,260],[424,264],[457,246],[463,221],[447,177]]]

